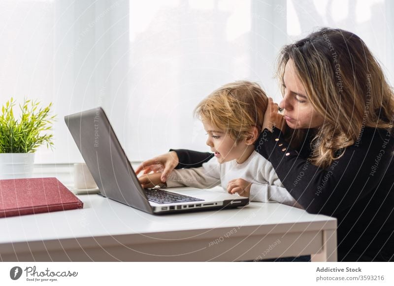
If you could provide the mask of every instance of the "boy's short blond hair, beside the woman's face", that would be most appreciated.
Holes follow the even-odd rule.
[[[209,94],[197,105],[195,114],[239,142],[250,134],[251,127],[261,130],[267,104],[268,98],[259,84],[236,81]]]

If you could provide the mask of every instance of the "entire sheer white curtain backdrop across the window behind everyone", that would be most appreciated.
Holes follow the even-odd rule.
[[[0,99],[54,103],[55,150],[81,161],[64,115],[103,106],[131,160],[208,150],[193,118],[213,89],[257,81],[280,100],[281,47],[321,26],[354,31],[393,83],[389,0],[1,0]]]

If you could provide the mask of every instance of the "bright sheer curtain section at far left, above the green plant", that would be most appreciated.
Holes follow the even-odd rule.
[[[54,101],[54,7],[53,1],[0,1],[1,105],[11,97]]]

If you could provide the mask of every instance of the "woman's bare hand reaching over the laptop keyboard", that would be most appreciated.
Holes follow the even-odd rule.
[[[150,172],[161,173],[160,179],[164,183],[168,174],[175,169],[178,163],[178,155],[175,151],[170,151],[153,159],[142,162],[141,165],[139,165],[135,170],[135,173],[137,175],[142,171],[142,174],[149,174]]]

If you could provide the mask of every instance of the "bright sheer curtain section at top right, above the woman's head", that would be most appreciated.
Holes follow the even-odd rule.
[[[289,39],[317,27],[352,31],[366,43],[393,84],[394,2],[390,0],[287,0]]]

